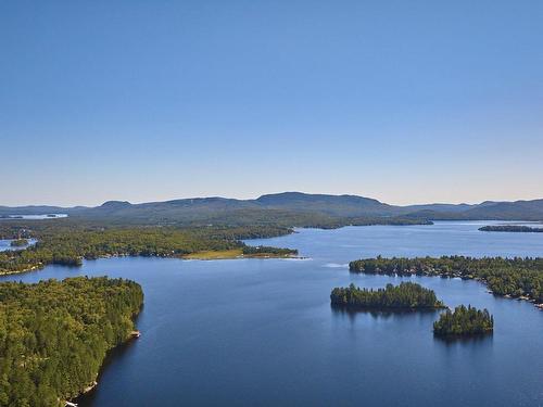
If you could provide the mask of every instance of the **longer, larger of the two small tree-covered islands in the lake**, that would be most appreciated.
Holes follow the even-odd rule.
[[[414,282],[387,284],[378,290],[361,289],[351,283],[348,288],[333,289],[330,300],[334,306],[352,308],[434,309],[444,306],[432,290]]]

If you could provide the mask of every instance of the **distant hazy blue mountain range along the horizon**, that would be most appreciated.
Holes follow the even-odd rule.
[[[413,220],[543,220],[543,200],[483,202],[481,204],[426,204],[396,206],[357,195],[327,195],[283,192],[256,200],[195,198],[131,204],[109,201],[96,207],[0,206],[0,216],[67,214],[71,218],[138,224],[291,224],[312,226],[327,222],[348,225],[357,219]],[[339,220],[341,219],[341,221]]]

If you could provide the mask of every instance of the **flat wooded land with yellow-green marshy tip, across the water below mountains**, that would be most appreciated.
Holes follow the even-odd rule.
[[[23,251],[0,252],[0,274],[38,269],[48,264],[79,266],[84,258],[102,256],[182,257],[203,251],[239,249],[251,254],[285,255],[295,251],[274,249],[268,253],[249,249],[240,239],[286,234],[291,229],[262,227],[111,227],[77,221],[45,220],[0,226],[4,238],[24,236],[37,243]]]

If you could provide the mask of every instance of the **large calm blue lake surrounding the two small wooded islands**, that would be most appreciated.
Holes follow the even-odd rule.
[[[489,222],[484,222],[489,224]],[[540,233],[483,233],[477,222],[302,230],[252,244],[298,247],[306,260],[110,258],[5,279],[89,275],[143,285],[142,336],[115,352],[80,406],[543,406],[543,313],[475,281],[413,278],[450,306],[494,315],[491,338],[433,338],[437,313],[349,315],[333,287],[400,278],[350,275],[390,255],[543,256]]]

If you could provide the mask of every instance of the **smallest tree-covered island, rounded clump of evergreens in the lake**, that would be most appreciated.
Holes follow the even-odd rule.
[[[490,333],[494,329],[494,318],[488,309],[460,305],[451,311],[447,309],[433,322],[433,333],[437,335],[477,335]]]

